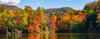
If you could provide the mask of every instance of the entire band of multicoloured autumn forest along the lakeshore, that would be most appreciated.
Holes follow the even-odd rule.
[[[0,8],[0,33],[83,33],[100,32],[100,0],[88,3],[83,10],[44,13],[44,8],[22,10]],[[47,15],[48,14],[48,15]]]

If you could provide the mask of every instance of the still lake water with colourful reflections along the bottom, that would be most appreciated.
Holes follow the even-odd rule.
[[[100,39],[100,33],[0,34],[0,39]]]

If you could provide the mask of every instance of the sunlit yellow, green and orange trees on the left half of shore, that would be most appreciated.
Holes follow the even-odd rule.
[[[0,29],[5,28],[5,31],[15,32],[16,30],[20,30],[26,33],[50,31],[56,28],[56,18],[51,17],[52,23],[47,23],[46,15],[40,7],[36,12],[32,10],[30,6],[25,6],[25,9],[22,11],[6,11],[4,6],[0,9]],[[49,24],[49,26],[47,26],[47,24]],[[2,31],[3,30],[1,30],[1,32]]]

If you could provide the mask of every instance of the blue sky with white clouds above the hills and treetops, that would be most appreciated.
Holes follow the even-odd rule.
[[[82,10],[85,4],[95,0],[0,0],[0,4],[14,5],[24,9],[26,5],[36,10],[38,7],[44,9],[71,7],[76,10]]]

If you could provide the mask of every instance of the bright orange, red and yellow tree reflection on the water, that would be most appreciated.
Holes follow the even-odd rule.
[[[27,39],[56,39],[55,34],[27,34]]]

